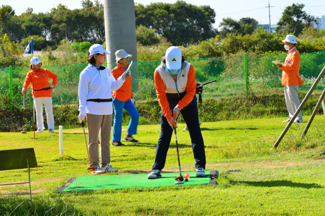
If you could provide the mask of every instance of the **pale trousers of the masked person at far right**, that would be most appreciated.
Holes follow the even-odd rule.
[[[286,109],[289,112],[289,119],[293,118],[294,114],[296,113],[300,105],[300,100],[298,96],[298,87],[299,86],[284,86],[285,104],[286,104]],[[303,118],[303,114],[300,111],[296,120],[299,121],[302,118]]]

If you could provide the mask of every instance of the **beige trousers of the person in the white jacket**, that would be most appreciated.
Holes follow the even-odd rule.
[[[90,166],[99,165],[100,158],[98,152],[98,134],[101,142],[101,167],[111,162],[110,137],[112,128],[112,115],[87,114],[88,127],[88,149],[90,156]]]

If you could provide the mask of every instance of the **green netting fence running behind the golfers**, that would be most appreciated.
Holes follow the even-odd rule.
[[[204,87],[203,98],[229,98],[262,96],[283,93],[281,85],[282,70],[271,61],[285,60],[286,55],[240,55],[222,58],[187,59],[196,70],[198,83],[217,80]],[[245,79],[245,59],[247,79]],[[153,73],[160,60],[135,62],[132,64],[132,91],[137,100],[155,99]],[[78,103],[79,74],[84,64],[46,66],[58,76],[58,84],[52,95],[53,104]],[[325,51],[301,54],[300,76],[305,81],[299,87],[300,92],[308,91],[321,69],[325,65]],[[106,65],[113,69],[116,64]],[[23,97],[21,88],[29,67],[8,67],[0,69],[0,104],[12,104],[21,107]],[[50,80],[51,83],[52,80]],[[247,86],[247,88],[246,88]],[[325,88],[322,79],[315,91]],[[30,87],[27,89],[26,107],[32,107]]]

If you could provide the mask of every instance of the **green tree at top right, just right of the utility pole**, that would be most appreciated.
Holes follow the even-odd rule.
[[[277,23],[276,31],[283,34],[295,33],[299,35],[303,32],[304,27],[312,26],[316,20],[306,11],[303,11],[304,7],[304,4],[293,4],[286,7]]]

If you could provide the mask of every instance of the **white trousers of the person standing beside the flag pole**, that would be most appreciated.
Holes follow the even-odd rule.
[[[47,126],[49,129],[54,129],[54,117],[52,109],[52,97],[36,97],[34,98],[35,110],[36,110],[36,122],[37,128],[44,130],[43,121],[43,104],[46,112]]]

